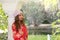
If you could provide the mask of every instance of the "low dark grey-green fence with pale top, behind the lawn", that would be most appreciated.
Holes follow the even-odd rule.
[[[53,28],[50,24],[41,24],[37,27],[28,27],[29,34],[52,34]],[[55,31],[55,29],[54,29]]]

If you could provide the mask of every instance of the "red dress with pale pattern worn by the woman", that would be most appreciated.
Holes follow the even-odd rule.
[[[22,25],[19,31],[16,31],[16,26],[12,25],[13,39],[14,40],[27,40],[28,33],[25,25]]]

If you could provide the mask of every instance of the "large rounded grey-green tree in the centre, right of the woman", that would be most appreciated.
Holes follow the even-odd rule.
[[[30,24],[39,25],[44,20],[44,6],[41,3],[35,3],[34,1],[29,1],[22,7],[23,12],[27,16],[27,20]]]

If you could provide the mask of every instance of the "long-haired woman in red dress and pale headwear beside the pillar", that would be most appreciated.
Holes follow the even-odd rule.
[[[17,12],[15,22],[12,25],[12,31],[14,40],[27,40],[28,33],[27,28],[24,24],[24,16],[22,11]]]

